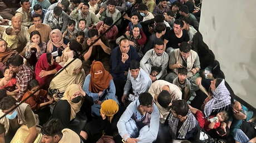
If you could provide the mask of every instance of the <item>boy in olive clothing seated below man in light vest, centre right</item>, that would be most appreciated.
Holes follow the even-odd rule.
[[[173,84],[177,85],[182,92],[182,99],[188,101],[191,96],[190,82],[186,79],[188,69],[179,68],[178,77],[173,80]]]

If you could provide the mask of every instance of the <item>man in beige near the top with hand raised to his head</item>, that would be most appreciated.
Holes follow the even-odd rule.
[[[89,12],[89,4],[88,3],[80,3],[79,6],[73,10],[70,14],[70,18],[74,19],[78,24],[80,19],[86,20],[86,27],[91,27],[96,25],[99,22],[99,18],[92,12]]]

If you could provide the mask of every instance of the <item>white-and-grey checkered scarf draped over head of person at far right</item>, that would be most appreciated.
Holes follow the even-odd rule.
[[[231,97],[228,89],[225,86],[225,80],[223,79],[219,86],[212,91],[213,98],[210,99],[204,106],[204,114],[208,117],[211,111],[214,109],[224,108],[231,104]]]

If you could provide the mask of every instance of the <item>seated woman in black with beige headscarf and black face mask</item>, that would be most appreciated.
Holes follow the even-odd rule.
[[[67,87],[63,98],[58,100],[55,108],[53,109],[52,118],[60,119],[62,125],[65,128],[75,131],[80,134],[83,126],[80,125],[81,122],[75,122],[74,119],[78,115],[82,106],[90,108],[93,104],[93,100],[90,96],[86,96],[85,92],[81,89],[80,85],[71,84]],[[80,114],[81,111],[80,111]]]

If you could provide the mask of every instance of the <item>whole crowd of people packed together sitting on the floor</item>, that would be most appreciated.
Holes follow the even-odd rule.
[[[256,142],[198,3],[0,0],[0,142]]]

